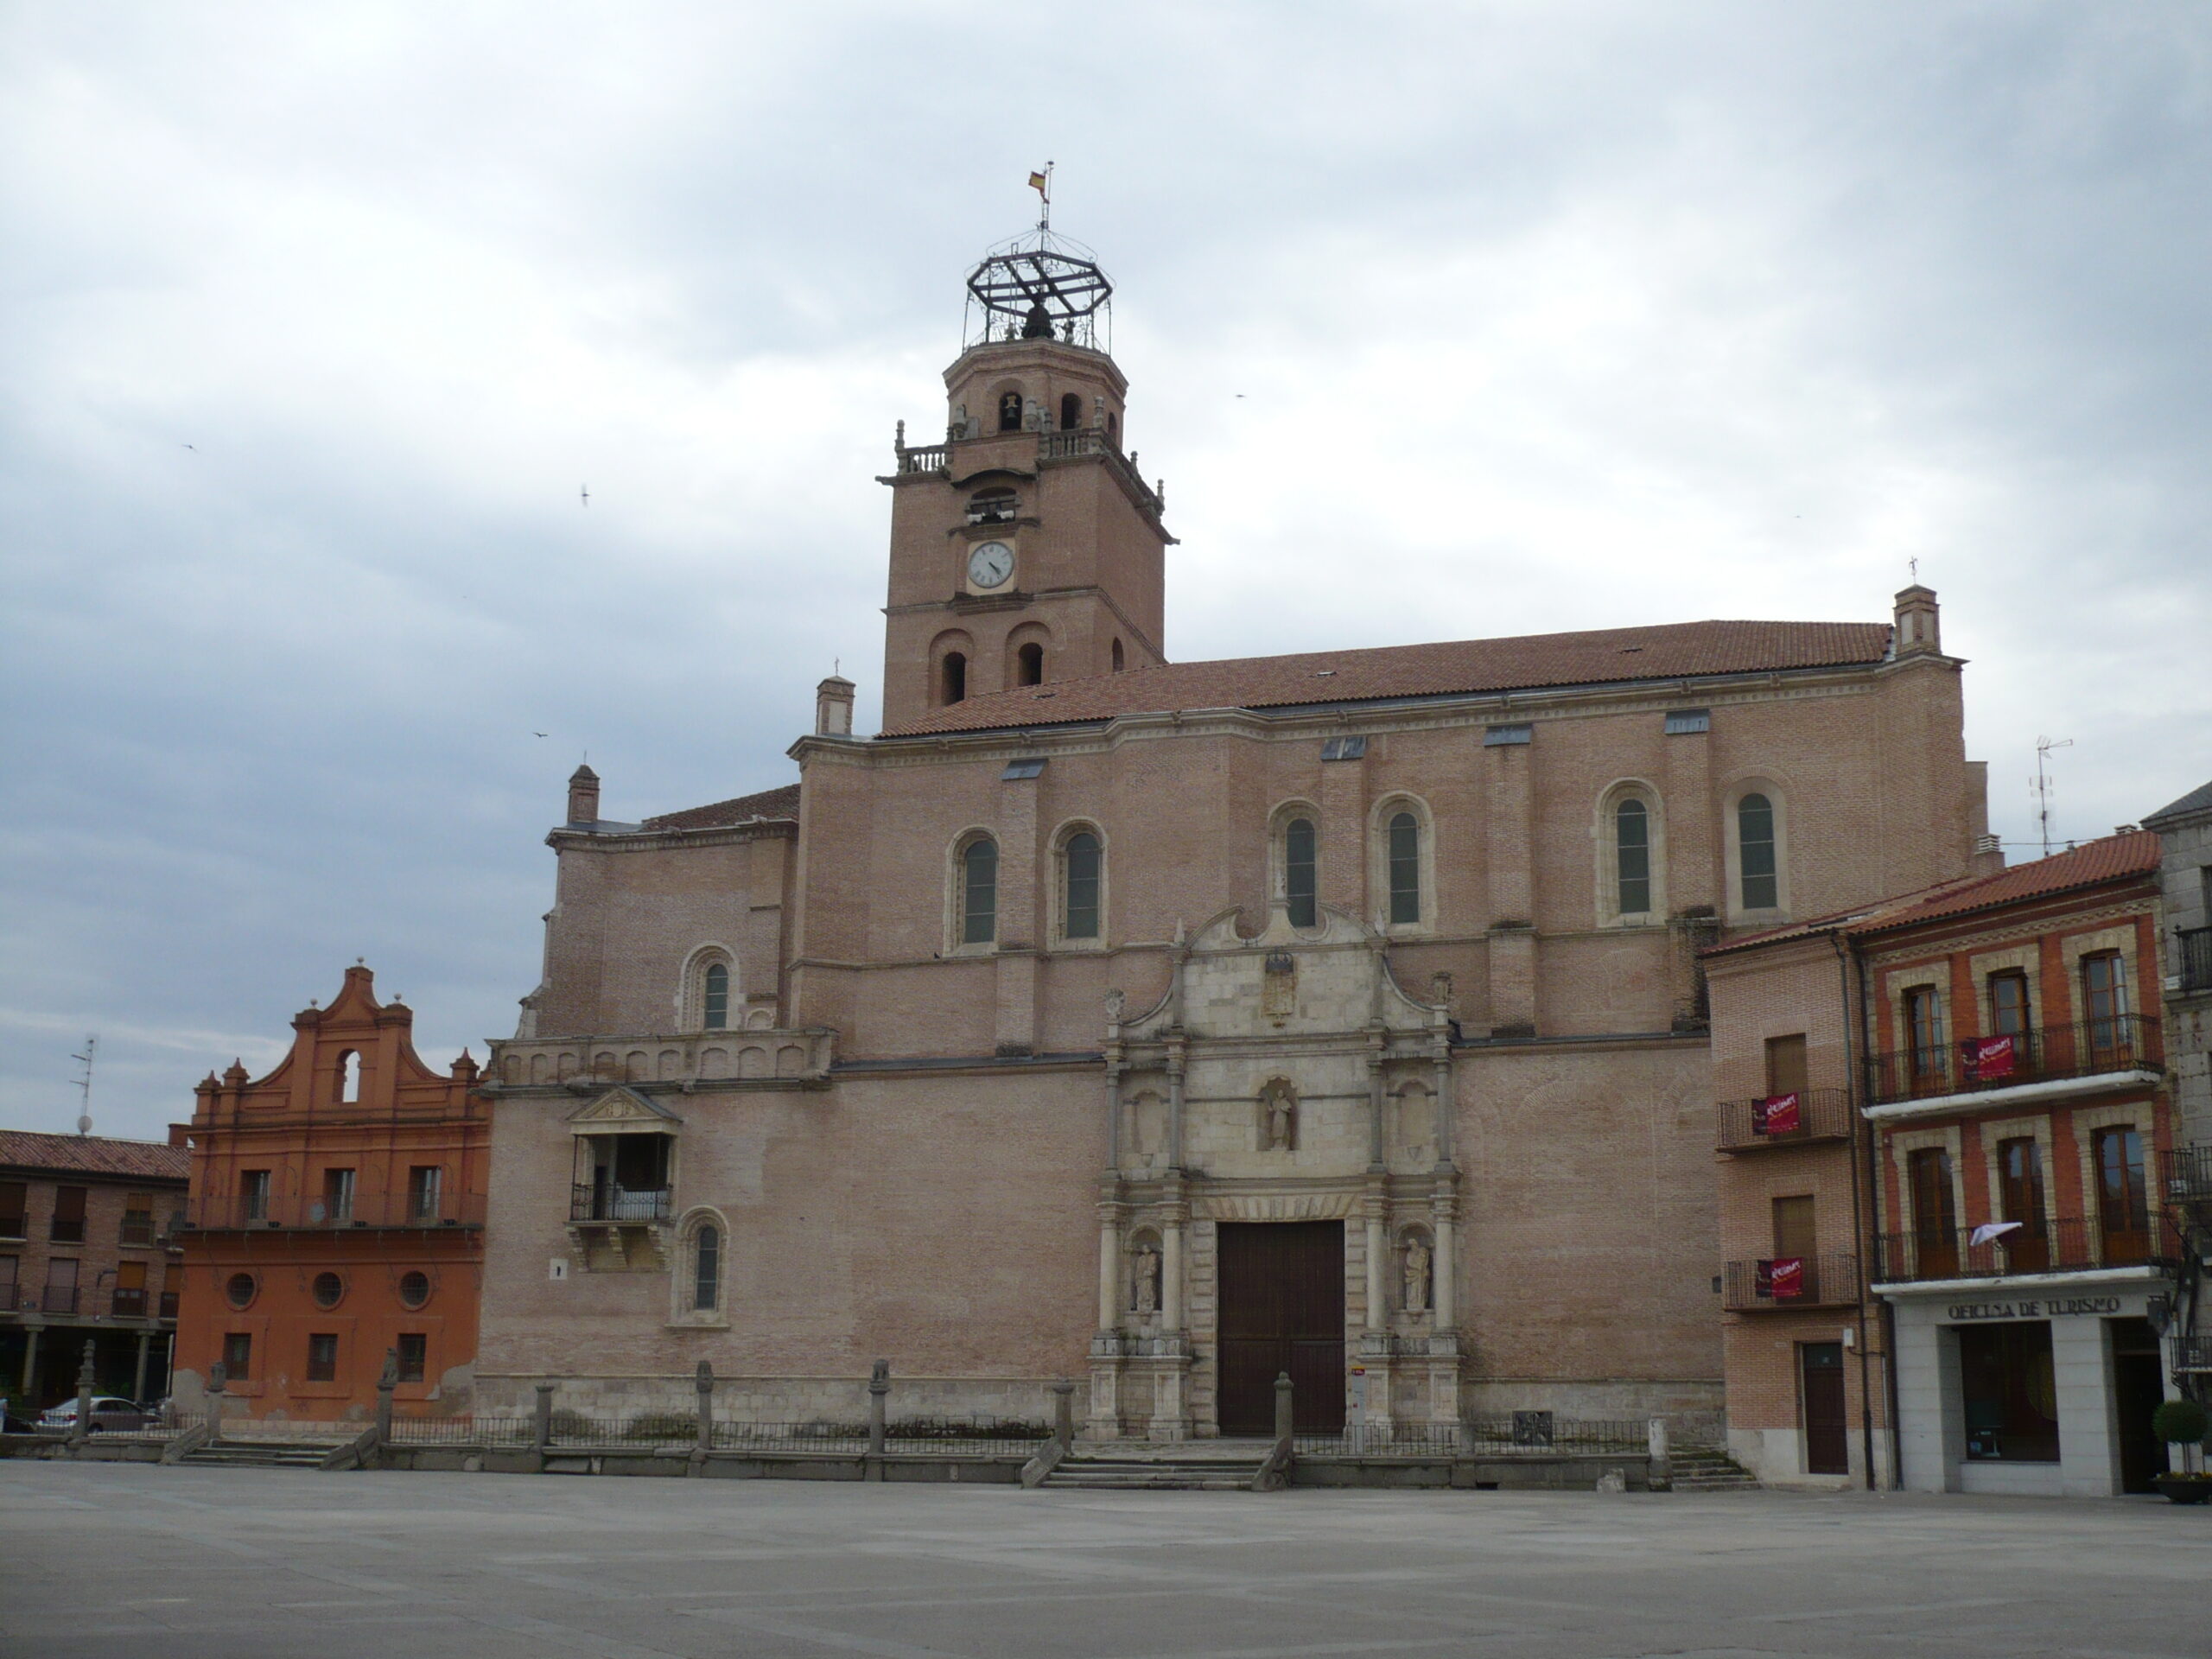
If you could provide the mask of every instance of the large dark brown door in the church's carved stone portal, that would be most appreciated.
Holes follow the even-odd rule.
[[[1345,1427],[1345,1223],[1223,1221],[1221,1433],[1274,1433],[1274,1378],[1290,1371],[1298,1433]]]

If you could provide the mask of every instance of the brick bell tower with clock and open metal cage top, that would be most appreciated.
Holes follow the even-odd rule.
[[[1113,283],[1046,223],[967,279],[945,442],[898,427],[883,726],[1166,661],[1161,489],[1124,449]]]

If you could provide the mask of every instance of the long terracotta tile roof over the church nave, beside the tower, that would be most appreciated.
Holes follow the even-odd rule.
[[[1433,646],[1310,650],[1294,657],[1133,668],[1124,675],[991,692],[931,710],[922,719],[889,728],[883,737],[1066,726],[1190,708],[1287,708],[1836,668],[1876,664],[1887,653],[1885,622],[1674,622],[1657,628],[1453,639]]]

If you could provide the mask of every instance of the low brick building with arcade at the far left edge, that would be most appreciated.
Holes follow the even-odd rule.
[[[0,1130],[0,1396],[42,1411],[95,1387],[168,1391],[188,1155],[159,1141]]]

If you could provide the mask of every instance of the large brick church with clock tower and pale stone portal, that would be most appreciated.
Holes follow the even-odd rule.
[[[1666,1416],[1719,1440],[1699,953],[1995,867],[1936,595],[1170,661],[1110,288],[969,276],[896,447],[883,719],[568,785],[493,1044],[478,1409],[1091,1436]]]

